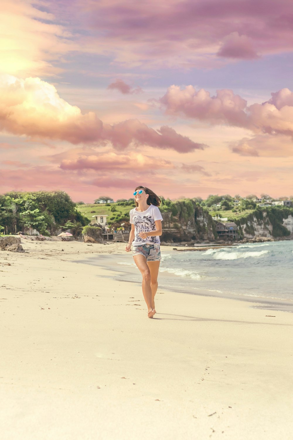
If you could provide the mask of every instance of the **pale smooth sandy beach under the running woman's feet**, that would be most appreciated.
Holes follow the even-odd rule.
[[[0,253],[2,439],[292,438],[292,313],[159,287],[148,319],[140,286],[76,264],[125,244],[22,246]]]

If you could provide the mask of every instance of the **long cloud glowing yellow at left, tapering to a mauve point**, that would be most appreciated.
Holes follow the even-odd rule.
[[[111,142],[116,149],[131,143],[179,152],[205,147],[166,126],[154,130],[137,120],[103,124],[94,112],[82,114],[79,107],[60,98],[54,85],[40,78],[22,80],[3,75],[0,93],[0,128],[16,135],[61,139],[72,144]]]

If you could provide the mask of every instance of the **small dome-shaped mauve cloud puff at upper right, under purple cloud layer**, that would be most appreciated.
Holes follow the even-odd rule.
[[[232,32],[224,37],[218,56],[225,58],[254,59],[258,55],[253,48],[253,40],[246,35],[239,35],[238,32]]]

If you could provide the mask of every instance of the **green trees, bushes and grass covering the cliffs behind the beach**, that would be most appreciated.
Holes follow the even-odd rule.
[[[192,240],[217,237],[216,222],[212,216],[227,217],[228,221],[235,222],[241,237],[255,235],[256,223],[264,229],[272,225],[273,237],[290,234],[283,226],[283,219],[293,215],[293,207],[260,207],[253,202],[253,194],[245,199],[235,196],[238,204],[229,194],[211,194],[206,200],[160,198],[160,211],[169,214],[165,216],[165,226],[177,230],[178,237],[189,236]],[[96,201],[101,199],[107,201],[110,197],[102,196]],[[63,191],[10,192],[0,195],[0,234],[9,235],[24,230],[32,233],[36,229],[43,235],[49,235],[61,228],[70,230],[77,237],[84,233],[85,227],[94,224],[93,216],[106,215],[109,226],[119,229],[124,223],[127,228],[130,226],[129,211],[134,207],[133,198],[119,199],[116,203],[76,204]],[[176,238],[170,235],[170,239]]]

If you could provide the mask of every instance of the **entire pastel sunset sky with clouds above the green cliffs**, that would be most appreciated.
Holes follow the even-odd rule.
[[[0,25],[0,193],[293,194],[292,0],[4,0]]]

